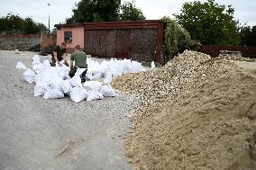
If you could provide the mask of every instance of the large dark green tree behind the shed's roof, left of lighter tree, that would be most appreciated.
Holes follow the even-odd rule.
[[[66,22],[117,21],[120,4],[121,0],[81,0],[75,4],[73,15]]]

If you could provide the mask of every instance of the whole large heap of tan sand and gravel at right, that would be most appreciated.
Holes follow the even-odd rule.
[[[233,60],[185,51],[165,67],[114,79],[145,100],[125,137],[135,167],[256,168],[256,75]]]

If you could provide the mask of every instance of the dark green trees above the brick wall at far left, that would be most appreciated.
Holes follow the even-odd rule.
[[[8,13],[0,18],[0,32],[2,33],[40,33],[46,32],[47,27],[43,23],[33,22],[32,18],[22,18],[19,15]]]

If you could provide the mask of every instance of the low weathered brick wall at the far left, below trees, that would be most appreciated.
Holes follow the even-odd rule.
[[[40,34],[0,34],[0,49],[29,50],[40,43]]]

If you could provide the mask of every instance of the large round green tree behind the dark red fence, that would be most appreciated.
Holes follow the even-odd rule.
[[[206,3],[185,3],[181,13],[174,15],[192,40],[206,45],[237,45],[240,42],[239,26],[233,13],[232,5],[226,7],[208,0]]]

